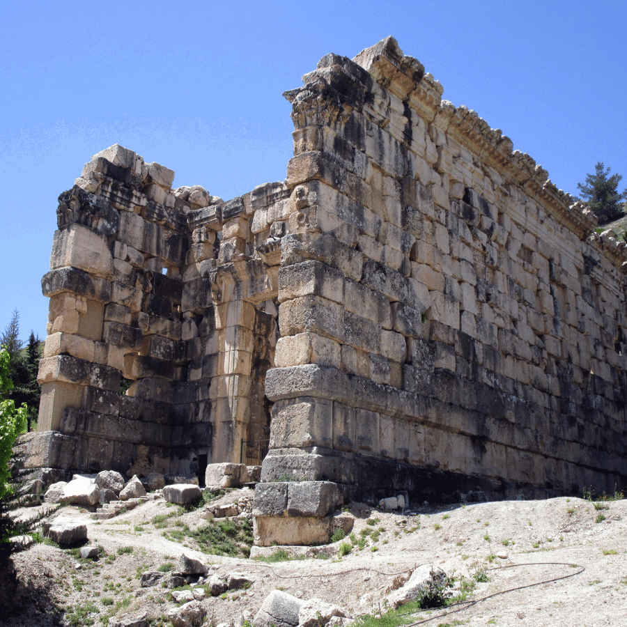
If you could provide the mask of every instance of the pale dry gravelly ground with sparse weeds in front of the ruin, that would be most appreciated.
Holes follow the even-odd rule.
[[[246,490],[232,490],[211,504],[236,502]],[[169,625],[165,614],[177,605],[171,589],[160,583],[141,587],[140,578],[146,571],[168,575],[182,553],[208,564],[208,575],[243,573],[251,581],[245,589],[201,601],[206,624],[213,626],[252,621],[274,589],[334,603],[351,617],[379,614],[392,589],[421,565],[454,577],[453,594],[465,601],[405,617],[412,624],[627,624],[627,500],[595,505],[561,497],[421,506],[402,513],[363,504],[348,509],[355,516],[353,534],[322,555],[263,562],[199,550],[194,530],[208,524],[202,509],[182,513],[157,498],[115,518],[94,520],[85,509],[64,506],[55,516],[84,522],[89,543],[101,547],[100,557],[80,559],[77,550],[46,543],[16,555],[22,589],[16,603],[23,613],[0,617],[0,624],[98,626],[109,617],[145,610],[151,625]],[[488,580],[477,582],[483,571]],[[204,585],[197,592],[202,596]]]

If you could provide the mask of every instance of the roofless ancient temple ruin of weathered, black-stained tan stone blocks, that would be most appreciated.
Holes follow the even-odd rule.
[[[111,146],[61,194],[28,465],[263,463],[260,543],[624,487],[626,245],[393,38],[303,81],[284,182],[224,202]]]

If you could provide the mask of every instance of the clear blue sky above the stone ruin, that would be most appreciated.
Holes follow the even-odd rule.
[[[557,187],[597,161],[626,184],[626,26],[624,0],[5,3],[0,331],[17,308],[45,337],[56,198],[91,155],[122,144],[225,200],[282,180],[281,93],[387,35]]]

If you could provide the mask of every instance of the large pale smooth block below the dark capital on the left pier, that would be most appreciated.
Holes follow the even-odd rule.
[[[71,224],[63,231],[55,231],[50,269],[67,266],[109,278],[113,272],[113,256],[107,238],[82,224]]]

